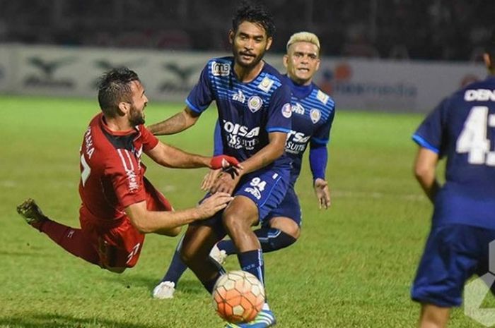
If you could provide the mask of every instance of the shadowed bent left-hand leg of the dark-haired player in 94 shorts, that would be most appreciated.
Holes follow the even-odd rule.
[[[224,272],[222,267],[209,258],[209,251],[213,245],[225,236],[220,215],[221,213],[218,213],[211,219],[190,224],[180,249],[182,261],[194,272],[209,293],[213,291],[216,280]]]

